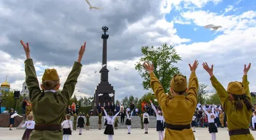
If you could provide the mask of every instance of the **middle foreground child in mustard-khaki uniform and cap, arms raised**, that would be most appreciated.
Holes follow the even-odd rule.
[[[157,102],[161,106],[166,121],[166,130],[164,140],[193,140],[195,136],[191,129],[191,121],[197,105],[198,79],[196,77],[196,68],[198,61],[193,65],[189,64],[191,75],[189,85],[187,78],[182,74],[173,75],[170,82],[170,95],[166,95],[161,82],[154,74],[154,65],[148,62],[143,64],[150,74],[150,86],[154,91]],[[185,96],[186,94],[186,96]]]

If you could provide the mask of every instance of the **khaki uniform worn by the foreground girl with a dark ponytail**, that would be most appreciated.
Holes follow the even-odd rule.
[[[227,115],[228,130],[241,130],[249,128],[252,110],[248,110],[246,105],[243,103],[244,107],[241,110],[237,110],[234,101],[230,100],[228,92],[221,85],[221,83],[216,79],[215,76],[211,77],[212,86],[216,89],[218,96],[220,97],[220,102],[223,105],[225,114]],[[247,75],[243,76],[243,90],[241,93],[245,93],[246,96],[251,100],[249,82],[247,80]],[[233,84],[233,86],[231,85]],[[235,89],[237,84],[232,82],[228,84],[228,90],[230,93],[235,93],[238,89]],[[230,86],[231,85],[231,86]],[[234,86],[235,85],[235,86]],[[241,87],[240,87],[241,88]],[[230,136],[230,140],[253,140],[252,134],[242,134]]]

